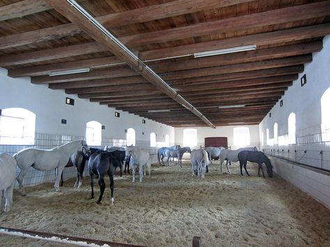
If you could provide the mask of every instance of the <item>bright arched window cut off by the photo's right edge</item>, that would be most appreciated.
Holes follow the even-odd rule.
[[[321,97],[322,141],[330,141],[330,88]]]

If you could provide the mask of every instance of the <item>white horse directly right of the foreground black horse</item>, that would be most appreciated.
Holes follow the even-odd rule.
[[[125,152],[125,161],[131,157],[129,164],[132,167],[132,183],[135,182],[135,168],[134,166],[139,166],[139,175],[140,175],[140,182],[144,176],[146,176],[146,169],[148,168],[149,177],[150,177],[150,170],[151,170],[151,159],[150,154],[148,151],[143,150],[141,148],[136,147],[127,147]]]

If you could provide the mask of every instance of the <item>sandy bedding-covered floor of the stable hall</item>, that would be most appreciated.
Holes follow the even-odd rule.
[[[25,197],[14,191],[0,225],[146,246],[191,246],[194,236],[202,246],[330,246],[330,209],[276,173],[258,177],[256,168],[248,164],[251,176],[241,177],[237,164],[231,174],[211,164],[201,180],[191,177],[186,160],[182,168],[152,165],[151,177],[139,183],[138,174],[134,184],[117,173],[113,206],[109,180],[101,205],[97,180],[92,200],[88,177],[80,189],[72,187],[74,179],[65,181],[61,193],[40,184],[27,187]],[[67,246],[0,234],[0,246],[23,243]]]

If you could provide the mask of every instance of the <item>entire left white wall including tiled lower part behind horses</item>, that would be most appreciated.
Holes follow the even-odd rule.
[[[103,106],[88,99],[80,99],[77,95],[66,95],[64,90],[52,90],[46,85],[31,83],[31,79],[11,78],[7,70],[0,68],[0,109],[13,107],[24,108],[36,114],[36,148],[54,148],[68,141],[84,139],[86,123],[95,120],[105,126],[102,129],[102,146],[125,145],[125,129],[135,130],[136,146],[146,148],[156,160],[156,147],[150,147],[150,133],[156,134],[157,142],[164,142],[168,134],[170,144],[174,143],[174,128],[152,120],[146,120],[138,115],[117,111],[108,106]],[[66,97],[74,99],[74,106],[65,104]],[[120,118],[115,117],[115,111],[120,113]],[[67,120],[63,125],[61,120]],[[0,152],[14,154],[29,145],[0,145]],[[54,170],[39,172],[30,169],[26,175],[25,184],[38,184],[40,182],[54,181]],[[70,168],[65,168],[70,170]],[[68,174],[67,174],[68,175]],[[66,175],[65,175],[66,176]],[[72,168],[72,175],[75,172]],[[30,180],[29,178],[30,177]]]

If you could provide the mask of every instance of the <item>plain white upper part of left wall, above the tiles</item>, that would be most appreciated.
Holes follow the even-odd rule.
[[[7,70],[0,68],[0,109],[22,107],[36,113],[36,132],[44,134],[68,134],[85,136],[86,122],[96,120],[105,126],[102,139],[126,139],[125,129],[136,131],[136,143],[150,145],[150,133],[157,134],[157,141],[165,141],[165,135],[174,142],[174,128],[137,115],[79,99],[77,95],[66,95],[63,90],[51,90],[45,85],[30,83],[30,78],[14,79],[7,77]],[[65,97],[74,99],[74,106],[65,104]],[[61,124],[61,119],[67,124]],[[144,132],[144,134],[143,134]]]

